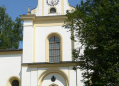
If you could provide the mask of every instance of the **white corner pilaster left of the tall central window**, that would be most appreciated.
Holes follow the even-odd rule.
[[[23,27],[23,63],[33,62],[33,22],[24,21]]]

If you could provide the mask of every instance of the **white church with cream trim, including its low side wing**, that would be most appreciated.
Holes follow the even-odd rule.
[[[23,49],[0,50],[0,86],[83,86],[72,56],[76,43],[62,27],[68,0],[38,0],[23,21]]]

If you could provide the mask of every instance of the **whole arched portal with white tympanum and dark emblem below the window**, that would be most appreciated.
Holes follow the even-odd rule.
[[[54,74],[54,77],[56,78],[57,82],[55,82],[55,80],[54,80],[54,82],[51,81],[53,74]],[[58,76],[60,77],[60,79],[57,78]],[[47,81],[47,80],[49,82],[48,85],[44,85],[43,84],[44,81]],[[61,84],[59,82],[61,82],[63,84]],[[58,83],[60,85],[58,85]],[[62,71],[59,68],[49,68],[49,69],[43,71],[38,78],[38,86],[43,86],[43,85],[44,86],[50,86],[50,85],[52,86],[53,84],[55,84],[54,86],[57,86],[57,85],[58,86],[69,86],[69,77],[67,76],[67,74],[64,71]]]

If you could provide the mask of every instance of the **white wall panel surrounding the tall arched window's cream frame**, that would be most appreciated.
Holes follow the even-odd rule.
[[[45,62],[45,40],[50,33],[59,33],[63,39],[63,61],[72,61],[71,39],[69,29],[62,26],[36,27],[35,28],[35,62]],[[49,57],[47,57],[49,59]]]

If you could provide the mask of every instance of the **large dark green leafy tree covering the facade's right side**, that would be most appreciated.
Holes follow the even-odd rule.
[[[81,1],[67,11],[65,27],[74,31],[72,40],[84,46],[75,49],[86,86],[119,86],[119,0]],[[78,39],[78,40],[75,40]]]

